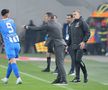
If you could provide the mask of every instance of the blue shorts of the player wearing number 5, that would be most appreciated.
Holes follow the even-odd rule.
[[[20,44],[13,43],[11,45],[5,46],[6,56],[10,60],[12,58],[18,58],[20,52]]]

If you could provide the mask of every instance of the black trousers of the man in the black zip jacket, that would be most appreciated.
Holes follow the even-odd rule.
[[[75,61],[76,78],[80,79],[80,68],[82,69],[84,78],[87,78],[86,66],[84,62],[82,61],[83,50],[73,49],[71,54],[72,54],[72,59]]]

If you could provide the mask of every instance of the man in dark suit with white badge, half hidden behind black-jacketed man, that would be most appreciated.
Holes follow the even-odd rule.
[[[74,20],[73,15],[67,14],[66,23],[63,24],[63,39],[67,43],[67,46],[69,43],[69,28],[70,28],[70,24],[73,22],[73,20]],[[70,71],[68,74],[73,76],[73,75],[75,75],[75,73],[74,73],[75,61],[74,61],[74,59],[72,59],[71,52],[72,52],[72,49],[70,46],[68,46],[66,54],[69,53],[69,55],[71,56],[71,68],[70,68]]]

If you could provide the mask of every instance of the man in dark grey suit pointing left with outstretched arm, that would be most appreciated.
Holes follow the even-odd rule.
[[[40,27],[36,26],[25,26],[25,28],[31,28],[34,30],[46,30],[49,35],[46,46],[50,45],[53,42],[55,58],[58,67],[57,78],[52,82],[52,84],[67,84],[66,81],[66,72],[64,69],[64,50],[66,43],[62,36],[62,27],[59,23],[54,21],[54,15],[51,12],[45,14],[46,24]]]

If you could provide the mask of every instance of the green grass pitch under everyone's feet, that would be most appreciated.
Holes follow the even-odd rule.
[[[27,55],[31,56],[31,55]],[[35,55],[33,55],[35,56]],[[44,56],[43,54],[38,56]],[[70,60],[65,62],[66,72],[70,69]],[[0,58],[0,79],[6,74],[7,60]],[[0,90],[108,90],[108,62],[98,62],[93,60],[84,60],[87,65],[89,82],[83,83],[83,76],[81,73],[81,82],[70,82],[74,76],[67,75],[68,85],[57,86],[52,85],[51,82],[56,78],[52,72],[41,72],[46,67],[45,61],[18,61],[23,84],[16,85],[16,78],[12,73],[8,84],[3,84],[0,81]],[[55,69],[55,63],[51,63],[51,70]]]

